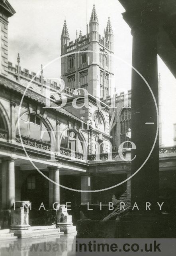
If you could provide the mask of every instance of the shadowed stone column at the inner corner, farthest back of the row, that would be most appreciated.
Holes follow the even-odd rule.
[[[89,186],[90,185],[90,186]],[[81,176],[81,190],[91,190],[91,177],[89,175]],[[81,192],[81,204],[92,203],[92,195],[90,192]]]

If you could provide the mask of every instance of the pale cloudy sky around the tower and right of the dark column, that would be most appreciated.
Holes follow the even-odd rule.
[[[131,89],[131,29],[123,20],[124,8],[117,0],[9,0],[16,14],[9,19],[9,61],[14,65],[20,53],[20,66],[38,72],[41,64],[47,78],[61,76],[61,32],[66,19],[70,41],[76,39],[76,30],[86,34],[93,4],[99,20],[99,33],[110,16],[114,34],[114,77],[116,91]],[[121,59],[121,60],[120,60]],[[129,65],[125,64],[127,62]],[[173,123],[176,123],[176,79],[158,57],[162,91],[162,140],[164,146],[173,145]]]

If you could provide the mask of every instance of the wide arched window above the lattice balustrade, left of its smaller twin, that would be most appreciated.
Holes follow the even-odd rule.
[[[34,115],[22,116],[20,120],[20,134],[43,142],[50,142],[50,132],[43,120]]]

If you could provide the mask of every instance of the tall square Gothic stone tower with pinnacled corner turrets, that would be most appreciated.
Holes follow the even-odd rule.
[[[83,88],[97,98],[106,98],[111,93],[113,78],[113,30],[110,18],[104,36],[101,36],[94,5],[86,35],[82,35],[82,31],[78,35],[76,31],[76,39],[69,40],[65,21],[61,34],[61,74],[65,85],[70,90]]]

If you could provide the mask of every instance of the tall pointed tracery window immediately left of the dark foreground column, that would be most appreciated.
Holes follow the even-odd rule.
[[[127,141],[126,134],[129,128],[131,128],[131,108],[124,108],[120,116],[120,143]],[[125,143],[124,148],[128,147]]]

